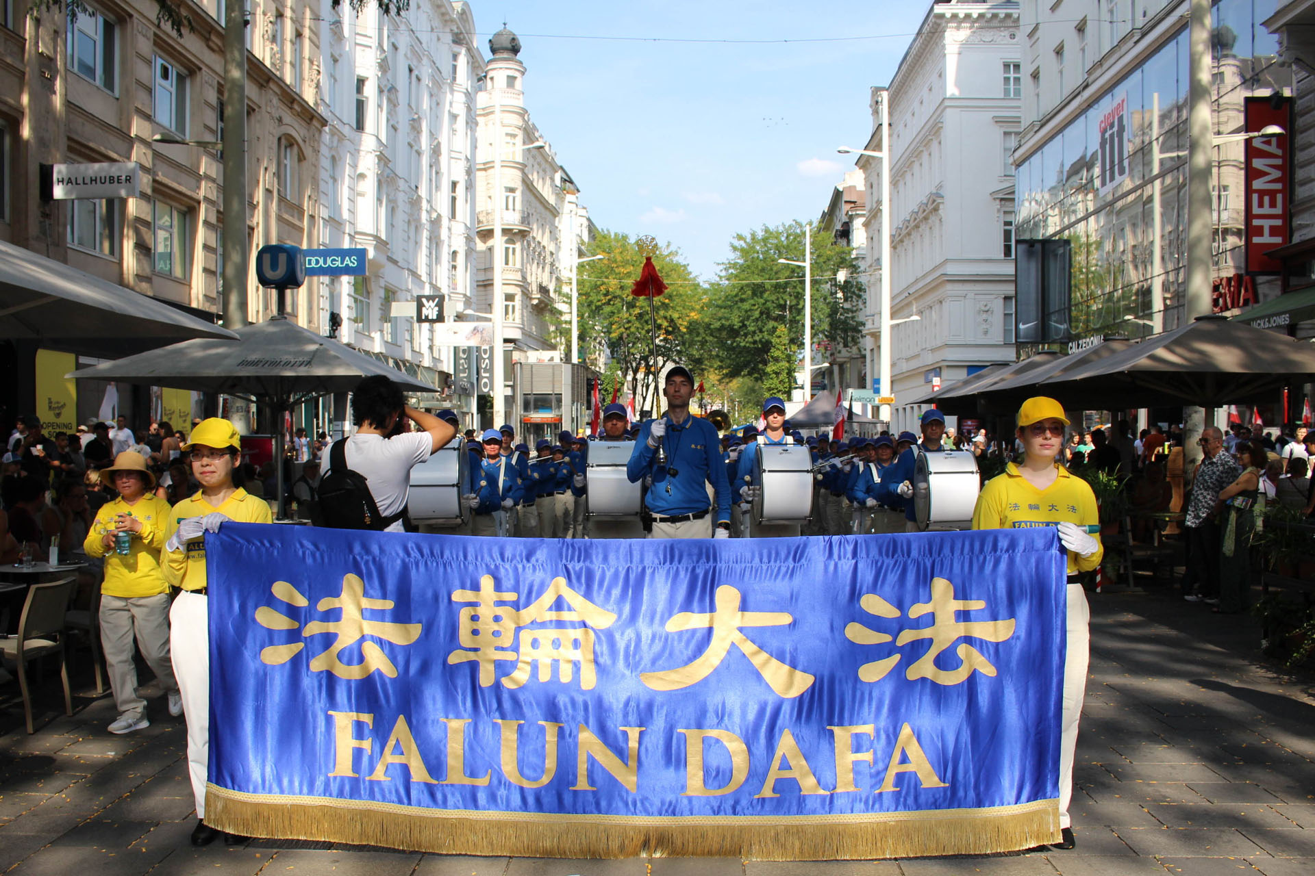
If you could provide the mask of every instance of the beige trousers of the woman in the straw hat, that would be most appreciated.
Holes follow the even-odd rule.
[[[168,657],[168,594],[154,596],[101,596],[100,646],[109,670],[109,690],[120,716],[146,717],[146,700],[137,695],[133,637],[146,665],[166,693],[178,691]]]

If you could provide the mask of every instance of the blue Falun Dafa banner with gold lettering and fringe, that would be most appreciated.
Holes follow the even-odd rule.
[[[479,855],[1059,839],[1053,529],[206,536],[206,822]]]

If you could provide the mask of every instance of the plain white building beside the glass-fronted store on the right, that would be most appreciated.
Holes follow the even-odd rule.
[[[934,3],[888,89],[872,89],[867,151],[864,281],[868,374],[890,344],[892,429],[917,431],[923,406],[902,403],[985,366],[1014,360],[1014,177],[1022,129],[1018,3]],[[880,101],[889,100],[889,143]],[[880,264],[881,213],[890,210],[890,265]],[[881,271],[890,273],[892,326],[880,322]],[[917,319],[913,319],[917,317]],[[873,385],[872,389],[876,389]]]

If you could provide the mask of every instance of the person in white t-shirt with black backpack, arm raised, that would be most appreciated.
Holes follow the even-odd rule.
[[[404,416],[421,431],[398,432]],[[347,468],[367,479],[379,514],[397,517],[384,532],[405,532],[401,515],[410,494],[410,470],[451,441],[456,429],[433,414],[408,407],[402,391],[383,374],[356,383],[351,419],[356,433],[343,441]],[[331,457],[325,457],[326,469],[331,469]]]

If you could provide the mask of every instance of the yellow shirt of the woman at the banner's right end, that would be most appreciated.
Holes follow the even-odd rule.
[[[1005,466],[1005,474],[988,481],[977,496],[973,529],[1026,529],[1055,525],[1065,520],[1080,527],[1101,523],[1095,494],[1088,482],[1070,474],[1063,465],[1056,464],[1055,468],[1059,469],[1055,483],[1038,490],[1019,474],[1016,465],[1010,462]],[[1093,537],[1099,544],[1101,536],[1093,535]],[[1070,575],[1091,571],[1099,567],[1105,548],[1090,557],[1078,557],[1072,550],[1068,556]]]

